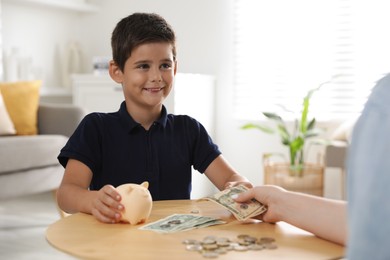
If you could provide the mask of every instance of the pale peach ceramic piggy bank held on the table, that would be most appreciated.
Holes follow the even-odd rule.
[[[121,203],[125,206],[121,221],[137,225],[148,219],[153,203],[148,187],[149,183],[143,182],[141,185],[122,184],[116,188],[122,196]]]

